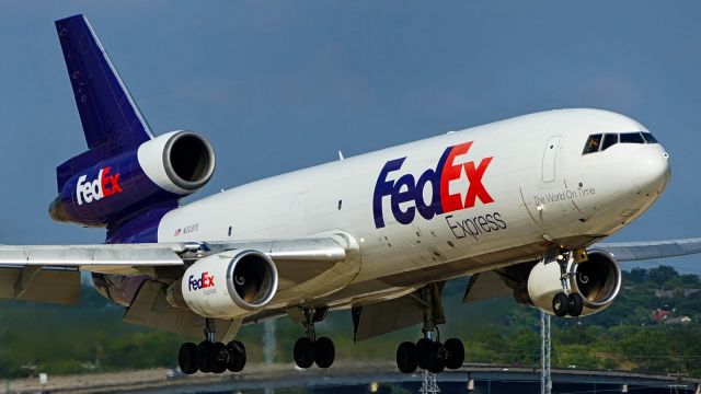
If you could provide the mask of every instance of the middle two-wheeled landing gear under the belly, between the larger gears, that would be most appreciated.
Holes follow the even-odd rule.
[[[292,350],[295,363],[302,369],[307,369],[313,363],[324,369],[331,367],[336,357],[333,340],[327,337],[317,338],[317,332],[314,329],[314,324],[324,320],[329,309],[300,308],[299,311],[304,317],[302,324],[304,325],[307,336],[297,339],[295,343]]]

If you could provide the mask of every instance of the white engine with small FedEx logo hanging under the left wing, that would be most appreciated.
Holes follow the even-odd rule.
[[[172,290],[175,289],[169,292]],[[275,263],[252,250],[204,257],[185,270],[180,285],[187,308],[205,317],[235,318],[257,311],[271,302],[276,291]]]

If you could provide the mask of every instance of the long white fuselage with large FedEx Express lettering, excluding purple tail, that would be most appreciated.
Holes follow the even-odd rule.
[[[586,246],[628,224],[667,183],[663,147],[618,143],[596,153],[583,150],[590,135],[631,131],[646,129],[595,109],[507,119],[203,198],[165,215],[158,237],[234,241],[343,232],[358,243],[360,255],[347,285],[415,287],[429,281],[426,273],[432,269],[443,277],[493,269],[533,258],[551,243]],[[467,142],[472,142],[467,154],[438,169],[447,148]],[[402,158],[401,166],[382,172],[388,162]],[[429,170],[443,171],[444,179],[420,181]],[[416,184],[421,190],[410,190]],[[426,208],[432,202],[440,212],[436,205]],[[358,289],[348,300],[370,291]]]

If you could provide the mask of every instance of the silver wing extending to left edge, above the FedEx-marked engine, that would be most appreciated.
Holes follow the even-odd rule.
[[[207,255],[251,248],[271,256],[280,285],[298,283],[346,258],[335,237],[211,243],[146,243],[108,245],[0,245],[0,298],[76,303],[80,270],[145,275],[158,279],[159,267],[183,267]]]

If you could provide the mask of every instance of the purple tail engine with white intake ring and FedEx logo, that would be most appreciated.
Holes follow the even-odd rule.
[[[172,131],[105,160],[92,158],[93,152],[58,167],[51,219],[104,227],[146,206],[196,192],[215,170],[211,146],[193,131]]]

